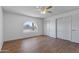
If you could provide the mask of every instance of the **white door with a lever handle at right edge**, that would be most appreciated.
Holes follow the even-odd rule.
[[[72,16],[72,41],[79,43],[79,14]]]

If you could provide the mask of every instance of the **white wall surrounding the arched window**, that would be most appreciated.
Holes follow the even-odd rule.
[[[36,22],[38,32],[23,33],[23,23],[26,21]],[[5,41],[18,38],[27,38],[43,34],[43,20],[39,18],[27,17],[15,13],[4,12],[4,39]]]

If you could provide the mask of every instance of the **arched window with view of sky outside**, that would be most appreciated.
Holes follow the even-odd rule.
[[[32,21],[26,21],[24,23],[24,30],[23,32],[37,32],[38,27],[37,24]]]

